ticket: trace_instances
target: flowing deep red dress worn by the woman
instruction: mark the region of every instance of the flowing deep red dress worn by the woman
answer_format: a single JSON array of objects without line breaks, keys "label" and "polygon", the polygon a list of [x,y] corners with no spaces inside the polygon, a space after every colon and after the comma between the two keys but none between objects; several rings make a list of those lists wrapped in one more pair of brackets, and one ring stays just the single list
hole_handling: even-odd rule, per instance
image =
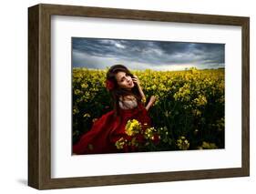
[{"label": "flowing deep red dress worn by the woman", "polygon": [[120,152],[115,143],[119,138],[126,136],[125,126],[129,119],[137,119],[142,124],[151,125],[148,111],[140,103],[133,109],[120,109],[118,117],[115,117],[112,110],[95,121],[93,127],[73,146],[73,153],[82,155]]}]

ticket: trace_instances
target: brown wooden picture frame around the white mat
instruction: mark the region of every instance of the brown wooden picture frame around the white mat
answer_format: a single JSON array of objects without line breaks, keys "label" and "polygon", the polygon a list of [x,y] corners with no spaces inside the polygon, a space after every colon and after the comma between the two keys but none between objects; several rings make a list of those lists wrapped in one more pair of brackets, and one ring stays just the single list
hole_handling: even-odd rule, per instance
[{"label": "brown wooden picture frame around the white mat", "polygon": [[[142,174],[51,178],[51,16],[86,16],[141,21],[241,26],[241,168],[166,171]],[[250,19],[73,5],[28,8],[28,185],[60,189],[250,175]]]}]

